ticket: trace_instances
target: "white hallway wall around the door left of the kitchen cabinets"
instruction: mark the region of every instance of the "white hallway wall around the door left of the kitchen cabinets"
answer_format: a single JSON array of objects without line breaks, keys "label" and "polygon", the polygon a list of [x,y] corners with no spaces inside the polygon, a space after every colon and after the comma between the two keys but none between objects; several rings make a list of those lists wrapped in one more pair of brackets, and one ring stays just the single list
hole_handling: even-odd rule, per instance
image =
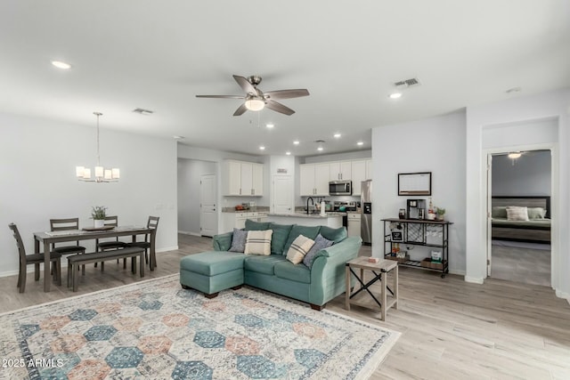
[{"label": "white hallway wall around the door left of the kitchen cabinets", "polygon": [[217,164],[209,161],[178,158],[178,231],[199,235],[200,179],[204,174],[217,175]]}]

